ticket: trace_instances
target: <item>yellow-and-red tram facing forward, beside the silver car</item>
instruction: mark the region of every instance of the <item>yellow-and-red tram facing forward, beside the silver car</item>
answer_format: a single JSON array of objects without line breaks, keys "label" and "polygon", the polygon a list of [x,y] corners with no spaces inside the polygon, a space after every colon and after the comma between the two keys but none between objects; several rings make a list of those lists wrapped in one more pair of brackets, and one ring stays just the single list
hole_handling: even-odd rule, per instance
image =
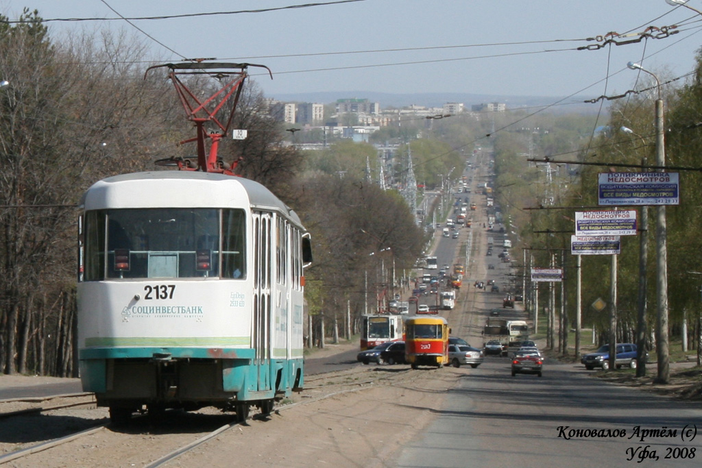
[{"label": "yellow-and-red tram facing forward, beside the silver car", "polygon": [[405,360],[413,369],[449,363],[449,323],[444,317],[410,317],[404,328]]}]

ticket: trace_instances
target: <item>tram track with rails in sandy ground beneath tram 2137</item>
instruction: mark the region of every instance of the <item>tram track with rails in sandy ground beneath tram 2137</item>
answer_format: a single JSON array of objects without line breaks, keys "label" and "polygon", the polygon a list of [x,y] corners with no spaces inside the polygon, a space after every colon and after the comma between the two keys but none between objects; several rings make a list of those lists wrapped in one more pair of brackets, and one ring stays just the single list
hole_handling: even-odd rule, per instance
[{"label": "tram track with rails in sandy ground beneath tram 2137", "polygon": [[[163,421],[141,415],[133,417],[126,426],[119,427],[109,423],[105,408],[95,408],[94,401],[5,411],[0,415],[6,418],[4,424],[14,424],[16,432],[20,431],[23,424],[36,424],[37,417],[46,417],[41,424],[47,427],[53,422],[60,424],[65,418],[78,418],[84,414],[78,412],[91,405],[93,408],[89,411],[98,413],[94,417],[102,422],[87,429],[81,428],[69,434],[48,437],[37,443],[21,444],[19,448],[8,448],[3,446],[6,444],[0,444],[0,454],[10,450],[0,455],[0,465],[13,462],[13,467],[31,467],[37,464],[44,467],[110,466],[110,463],[104,460],[109,460],[112,453],[128,452],[137,454],[135,460],[130,460],[133,466],[161,467],[232,429],[246,431],[246,426],[251,420],[266,420],[291,408],[307,406],[352,392],[377,389],[382,385],[411,386],[411,382],[421,375],[425,373],[403,366],[359,366],[352,372],[328,373],[324,377],[314,378],[314,381],[326,384],[307,387],[301,394],[274,408],[272,415],[256,413],[244,423],[236,422],[233,415],[220,413],[215,408],[206,408],[197,413],[169,411]],[[357,378],[350,380],[350,377]],[[7,403],[0,402],[0,410],[3,410],[3,405]],[[32,419],[34,421],[29,421]]]}]

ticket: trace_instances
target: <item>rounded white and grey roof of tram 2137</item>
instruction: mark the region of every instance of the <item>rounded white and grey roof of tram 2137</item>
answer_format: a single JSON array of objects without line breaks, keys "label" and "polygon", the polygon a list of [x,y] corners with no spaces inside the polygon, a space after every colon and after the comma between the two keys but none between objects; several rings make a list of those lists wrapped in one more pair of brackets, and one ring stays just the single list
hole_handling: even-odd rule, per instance
[{"label": "rounded white and grey roof of tram 2137", "polygon": [[261,210],[278,211],[300,225],[295,211],[260,183],[232,175],[198,171],[121,174],[95,182],[81,197],[85,210],[109,208],[227,208],[242,196]]}]

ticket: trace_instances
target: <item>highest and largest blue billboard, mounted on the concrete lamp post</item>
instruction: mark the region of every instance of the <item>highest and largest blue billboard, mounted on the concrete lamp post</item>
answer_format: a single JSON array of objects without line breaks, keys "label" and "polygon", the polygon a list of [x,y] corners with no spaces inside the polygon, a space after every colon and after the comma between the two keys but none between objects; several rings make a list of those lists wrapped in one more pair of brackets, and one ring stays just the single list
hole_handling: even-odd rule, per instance
[{"label": "highest and largest blue billboard, mounted on the concrete lamp post", "polygon": [[600,173],[597,204],[608,206],[679,205],[678,173]]}]

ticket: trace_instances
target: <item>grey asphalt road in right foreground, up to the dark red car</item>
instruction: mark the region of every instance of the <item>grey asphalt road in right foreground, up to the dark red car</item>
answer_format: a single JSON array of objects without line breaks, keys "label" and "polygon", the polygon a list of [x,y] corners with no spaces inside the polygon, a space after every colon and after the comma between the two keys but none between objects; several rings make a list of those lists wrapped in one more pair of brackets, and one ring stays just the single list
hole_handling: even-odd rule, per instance
[{"label": "grey asphalt road in right foreground, up to the dark red car", "polygon": [[[488,358],[466,375],[449,392],[435,422],[407,441],[398,466],[689,467],[701,462],[702,434],[692,436],[695,424],[702,429],[698,403],[608,385],[573,364],[546,365],[541,378],[512,377],[509,362]],[[637,428],[677,434],[642,440]],[[578,429],[597,433],[571,432]]]}]

